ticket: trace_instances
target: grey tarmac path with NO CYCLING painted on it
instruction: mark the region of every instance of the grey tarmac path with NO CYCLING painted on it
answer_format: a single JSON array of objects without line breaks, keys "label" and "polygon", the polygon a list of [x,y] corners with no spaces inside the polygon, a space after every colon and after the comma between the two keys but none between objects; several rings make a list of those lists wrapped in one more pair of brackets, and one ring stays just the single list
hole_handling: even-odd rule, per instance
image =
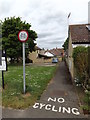
[{"label": "grey tarmac path with NO CYCLING painted on it", "polygon": [[3,108],[2,116],[3,118],[86,118],[80,109],[78,96],[64,62],[59,64],[54,78],[34,106],[25,110]]}]

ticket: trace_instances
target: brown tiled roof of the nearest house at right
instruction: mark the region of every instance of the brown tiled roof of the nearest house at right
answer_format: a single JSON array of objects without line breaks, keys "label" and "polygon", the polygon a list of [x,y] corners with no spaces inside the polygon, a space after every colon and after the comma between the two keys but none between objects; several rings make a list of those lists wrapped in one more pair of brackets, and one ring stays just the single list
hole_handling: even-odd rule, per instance
[{"label": "brown tiled roof of the nearest house at right", "polygon": [[90,42],[90,25],[70,25],[70,33],[73,44],[88,44]]}]

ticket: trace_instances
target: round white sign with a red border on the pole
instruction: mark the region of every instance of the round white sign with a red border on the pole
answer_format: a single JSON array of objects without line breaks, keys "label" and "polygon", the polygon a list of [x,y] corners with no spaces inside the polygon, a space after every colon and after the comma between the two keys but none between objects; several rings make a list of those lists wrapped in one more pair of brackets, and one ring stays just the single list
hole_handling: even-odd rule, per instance
[{"label": "round white sign with a red border on the pole", "polygon": [[18,33],[18,39],[20,42],[26,42],[28,40],[28,32],[26,30],[21,30]]}]

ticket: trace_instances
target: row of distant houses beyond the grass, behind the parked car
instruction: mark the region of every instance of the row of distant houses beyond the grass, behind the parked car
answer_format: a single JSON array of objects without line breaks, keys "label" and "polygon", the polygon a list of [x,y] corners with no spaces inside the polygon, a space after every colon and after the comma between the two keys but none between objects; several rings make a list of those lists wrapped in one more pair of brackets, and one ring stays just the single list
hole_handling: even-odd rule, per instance
[{"label": "row of distant houses beyond the grass, behind the parked car", "polygon": [[63,49],[54,48],[51,50],[44,50],[36,46],[36,51],[29,53],[28,57],[33,63],[51,63],[53,58],[57,58],[58,61],[61,61],[63,56]]}]

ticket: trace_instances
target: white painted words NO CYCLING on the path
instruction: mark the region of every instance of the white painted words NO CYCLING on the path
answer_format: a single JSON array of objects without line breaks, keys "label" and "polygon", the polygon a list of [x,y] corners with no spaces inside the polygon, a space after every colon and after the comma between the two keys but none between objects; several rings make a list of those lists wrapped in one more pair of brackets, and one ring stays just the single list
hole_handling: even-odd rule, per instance
[{"label": "white painted words NO CYCLING on the path", "polygon": [[[53,103],[57,102],[58,106],[56,106],[55,104],[51,104],[51,102],[53,102]],[[73,115],[77,115],[77,116],[80,115],[79,109],[76,108],[76,107],[66,106],[65,99],[62,98],[62,97],[60,97],[60,98],[49,97],[48,100],[47,100],[47,103],[36,102],[33,105],[33,108],[34,109],[40,109],[40,110],[44,109],[46,111],[52,111],[52,112],[55,112],[55,113],[63,113],[63,114],[67,113],[67,114],[73,114]]]}]

